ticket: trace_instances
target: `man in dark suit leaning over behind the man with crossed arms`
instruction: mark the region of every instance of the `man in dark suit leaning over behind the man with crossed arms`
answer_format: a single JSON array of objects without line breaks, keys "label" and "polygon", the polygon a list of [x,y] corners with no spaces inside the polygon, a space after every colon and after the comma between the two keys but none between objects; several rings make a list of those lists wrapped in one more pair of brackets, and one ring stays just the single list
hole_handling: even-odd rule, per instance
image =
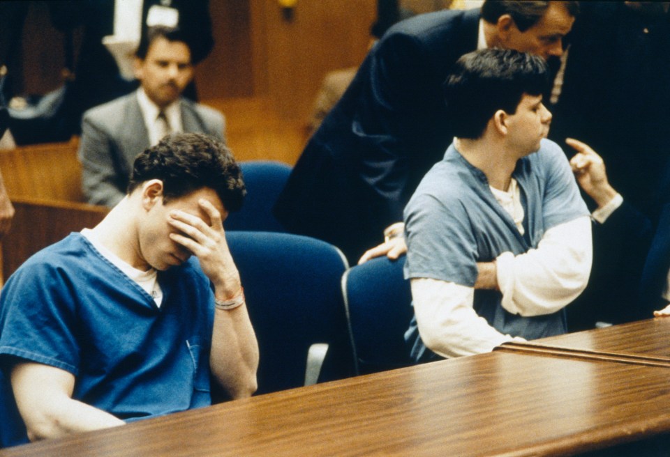
[{"label": "man in dark suit leaning over behind the man with crossed arms", "polygon": [[[393,26],[313,135],[275,207],[286,229],[351,262],[378,245],[452,133],[442,82],[461,55],[503,47],[560,56],[576,2],[486,1]],[[480,20],[481,19],[481,20]]]}]

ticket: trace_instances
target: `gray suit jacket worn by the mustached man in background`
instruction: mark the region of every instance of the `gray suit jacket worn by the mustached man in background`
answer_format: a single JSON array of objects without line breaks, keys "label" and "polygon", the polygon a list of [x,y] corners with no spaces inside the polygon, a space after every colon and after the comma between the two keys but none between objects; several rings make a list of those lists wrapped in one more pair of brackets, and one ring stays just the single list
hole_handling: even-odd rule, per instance
[{"label": "gray suit jacket worn by the mustached man in background", "polygon": [[[184,132],[206,133],[225,142],[225,120],[215,109],[181,104]],[[149,148],[137,93],[89,109],[82,119],[79,159],[82,189],[89,203],[114,206],[126,195],[135,156]]]}]

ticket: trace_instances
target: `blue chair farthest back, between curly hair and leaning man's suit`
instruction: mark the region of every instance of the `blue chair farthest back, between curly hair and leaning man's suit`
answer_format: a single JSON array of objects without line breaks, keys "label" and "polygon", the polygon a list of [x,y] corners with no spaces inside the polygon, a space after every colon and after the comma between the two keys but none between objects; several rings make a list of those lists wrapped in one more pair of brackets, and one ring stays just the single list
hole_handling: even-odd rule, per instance
[{"label": "blue chair farthest back, between curly hair and leaning man's suit", "polygon": [[226,230],[283,232],[272,208],[291,173],[282,162],[253,160],[240,162],[246,197],[241,210],[231,212],[223,226]]}]

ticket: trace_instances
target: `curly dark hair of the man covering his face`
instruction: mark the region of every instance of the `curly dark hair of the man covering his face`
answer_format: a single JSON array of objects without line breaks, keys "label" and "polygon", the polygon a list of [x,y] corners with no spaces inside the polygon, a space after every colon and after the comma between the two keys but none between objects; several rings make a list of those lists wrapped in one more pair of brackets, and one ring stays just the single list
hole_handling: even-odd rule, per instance
[{"label": "curly dark hair of the man covering his face", "polygon": [[232,153],[202,133],[175,133],[135,157],[128,194],[151,179],[163,181],[164,201],[203,187],[214,189],[228,211],[242,206],[246,189]]}]

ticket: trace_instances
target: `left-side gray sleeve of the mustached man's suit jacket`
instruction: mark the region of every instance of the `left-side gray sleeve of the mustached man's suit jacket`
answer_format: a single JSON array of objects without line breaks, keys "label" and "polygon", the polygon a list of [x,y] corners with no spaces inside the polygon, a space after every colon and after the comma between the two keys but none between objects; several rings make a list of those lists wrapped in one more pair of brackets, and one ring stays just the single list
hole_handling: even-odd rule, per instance
[{"label": "left-side gray sleeve of the mustached man's suit jacket", "polygon": [[113,141],[91,116],[84,114],[79,159],[82,190],[88,203],[114,206],[126,195],[121,189],[112,158]]}]

